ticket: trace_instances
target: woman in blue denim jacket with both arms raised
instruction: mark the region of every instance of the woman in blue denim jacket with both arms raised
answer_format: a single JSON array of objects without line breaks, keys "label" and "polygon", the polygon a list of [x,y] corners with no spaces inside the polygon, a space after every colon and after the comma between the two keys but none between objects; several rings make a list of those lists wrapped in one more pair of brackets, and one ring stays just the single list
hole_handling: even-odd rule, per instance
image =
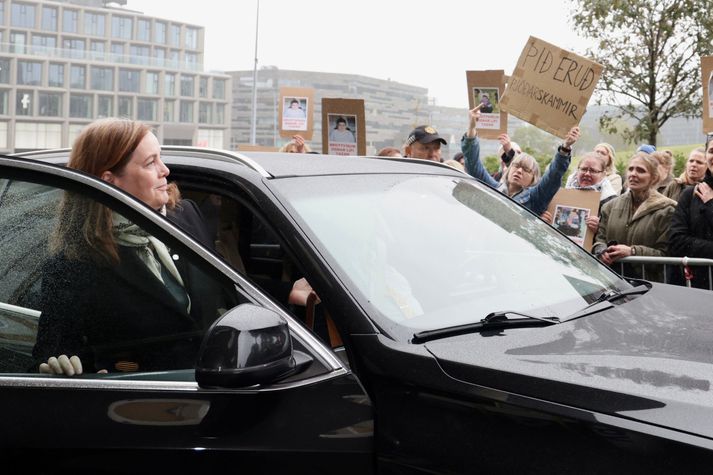
[{"label": "woman in blue denim jacket with both arms raised", "polygon": [[508,167],[505,178],[498,182],[488,174],[480,160],[480,143],[477,137],[477,123],[480,106],[469,111],[468,131],[461,140],[461,150],[465,155],[465,169],[473,177],[487,183],[501,193],[540,215],[547,209],[552,197],[557,193],[572,157],[572,145],[579,138],[579,127],[572,127],[564,143],[559,146],[554,160],[540,179],[537,161],[526,153],[515,157]]}]

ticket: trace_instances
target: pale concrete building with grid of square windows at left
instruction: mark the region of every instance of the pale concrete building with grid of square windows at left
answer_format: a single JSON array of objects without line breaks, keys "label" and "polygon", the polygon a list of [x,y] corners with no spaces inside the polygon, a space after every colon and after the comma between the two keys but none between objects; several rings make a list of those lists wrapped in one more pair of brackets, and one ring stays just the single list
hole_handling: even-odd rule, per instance
[{"label": "pale concrete building with grid of square windows at left", "polygon": [[125,3],[0,0],[0,151],[69,147],[100,117],[228,147],[230,77],[202,71],[203,27]]}]

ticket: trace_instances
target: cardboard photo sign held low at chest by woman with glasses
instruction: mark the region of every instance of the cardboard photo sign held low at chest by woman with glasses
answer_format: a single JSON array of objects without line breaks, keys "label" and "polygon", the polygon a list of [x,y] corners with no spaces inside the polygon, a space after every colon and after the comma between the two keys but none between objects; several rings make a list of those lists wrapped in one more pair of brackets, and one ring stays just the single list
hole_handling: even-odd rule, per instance
[{"label": "cardboard photo sign held low at chest by woman with glasses", "polygon": [[589,216],[599,216],[601,192],[560,188],[547,211],[550,224],[586,250],[592,249],[594,233],[587,227]]}]

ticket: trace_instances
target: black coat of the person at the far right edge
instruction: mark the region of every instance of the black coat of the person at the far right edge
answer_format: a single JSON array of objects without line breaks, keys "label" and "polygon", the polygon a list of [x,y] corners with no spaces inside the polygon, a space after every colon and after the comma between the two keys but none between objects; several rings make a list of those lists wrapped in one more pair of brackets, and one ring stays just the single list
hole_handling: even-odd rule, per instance
[{"label": "black coat of the person at the far right edge", "polygon": [[[694,194],[695,187],[683,190],[671,218],[668,250],[671,256],[713,259],[713,201],[703,203]],[[708,289],[708,268],[692,267],[693,287]],[[682,271],[675,269],[672,283],[685,282]]]}]

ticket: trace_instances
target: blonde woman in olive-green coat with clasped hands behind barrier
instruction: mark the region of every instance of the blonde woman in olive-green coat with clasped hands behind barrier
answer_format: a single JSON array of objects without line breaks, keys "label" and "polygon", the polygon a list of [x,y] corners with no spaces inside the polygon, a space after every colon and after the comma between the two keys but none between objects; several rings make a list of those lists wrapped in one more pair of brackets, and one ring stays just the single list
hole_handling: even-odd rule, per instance
[{"label": "blonde woman in olive-green coat with clasped hands behind barrier", "polygon": [[[627,170],[629,191],[606,203],[592,253],[607,265],[628,256],[664,256],[676,202],[656,191],[658,162],[637,152]],[[638,269],[625,272],[637,275]],[[646,266],[646,277],[661,280],[660,268]]]}]

